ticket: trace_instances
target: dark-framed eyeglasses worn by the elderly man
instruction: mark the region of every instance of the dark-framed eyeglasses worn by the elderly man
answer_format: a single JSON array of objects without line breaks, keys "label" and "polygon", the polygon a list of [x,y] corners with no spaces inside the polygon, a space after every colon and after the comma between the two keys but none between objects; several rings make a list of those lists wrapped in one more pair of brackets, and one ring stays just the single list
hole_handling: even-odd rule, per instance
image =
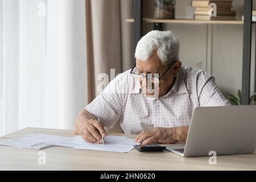
[{"label": "dark-framed eyeglasses worn by the elderly man", "polygon": [[[175,61],[174,61],[174,63],[175,63]],[[159,83],[160,79],[164,76],[164,74],[166,74],[166,72],[168,72],[168,70],[172,67],[172,65],[174,65],[174,63],[172,63],[166,69],[166,71],[164,71],[163,74],[160,76],[159,76],[159,73],[148,73],[147,75],[145,75],[144,73],[138,73],[138,70],[136,68],[136,60],[135,60],[135,63],[133,65],[133,68],[131,68],[130,73],[134,78],[138,78],[139,81],[143,81],[144,78],[147,78],[147,80],[150,80],[154,83]],[[151,76],[151,75],[154,75],[154,76]]]}]

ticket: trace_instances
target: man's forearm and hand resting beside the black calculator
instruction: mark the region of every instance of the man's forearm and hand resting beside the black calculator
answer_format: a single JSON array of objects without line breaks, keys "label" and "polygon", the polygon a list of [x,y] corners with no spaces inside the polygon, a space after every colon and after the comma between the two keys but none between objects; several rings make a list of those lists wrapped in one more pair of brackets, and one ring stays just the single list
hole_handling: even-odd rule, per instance
[{"label": "man's forearm and hand resting beside the black calculator", "polygon": [[142,131],[135,139],[135,142],[142,144],[185,142],[188,129],[188,126],[172,128],[155,127],[151,130]]}]

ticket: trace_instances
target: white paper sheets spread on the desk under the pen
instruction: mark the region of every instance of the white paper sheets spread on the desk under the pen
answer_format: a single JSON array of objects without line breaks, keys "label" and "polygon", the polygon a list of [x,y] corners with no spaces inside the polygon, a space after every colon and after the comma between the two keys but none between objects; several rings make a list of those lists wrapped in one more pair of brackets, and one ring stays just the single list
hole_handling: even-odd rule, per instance
[{"label": "white paper sheets spread on the desk under the pen", "polygon": [[7,139],[0,142],[3,146],[42,149],[50,146],[72,147],[82,150],[99,150],[112,152],[129,152],[134,147],[133,139],[127,137],[106,136],[105,144],[88,143],[81,136],[62,137],[46,134],[31,134],[24,137]]}]

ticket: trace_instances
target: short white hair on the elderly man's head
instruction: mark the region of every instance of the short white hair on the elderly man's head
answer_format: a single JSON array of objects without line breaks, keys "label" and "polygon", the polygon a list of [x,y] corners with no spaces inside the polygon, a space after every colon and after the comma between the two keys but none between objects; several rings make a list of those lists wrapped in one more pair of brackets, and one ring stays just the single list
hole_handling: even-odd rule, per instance
[{"label": "short white hair on the elderly man's head", "polygon": [[172,31],[153,30],[139,40],[135,57],[146,61],[157,49],[158,57],[162,63],[172,64],[179,60],[179,48],[179,39]]}]

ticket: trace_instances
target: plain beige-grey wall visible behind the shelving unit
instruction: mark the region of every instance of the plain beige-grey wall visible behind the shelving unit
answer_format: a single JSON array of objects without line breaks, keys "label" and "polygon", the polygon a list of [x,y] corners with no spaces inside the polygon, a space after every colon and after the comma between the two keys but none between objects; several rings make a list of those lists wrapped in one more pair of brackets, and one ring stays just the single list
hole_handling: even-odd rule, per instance
[{"label": "plain beige-grey wall visible behind the shelving unit", "polygon": [[[253,1],[256,10],[256,1]],[[154,0],[143,1],[144,18],[154,16]],[[185,7],[191,6],[191,0],[176,1],[176,18],[185,18]],[[234,0],[233,10],[237,19],[241,19],[243,1]],[[152,23],[143,23],[143,34],[152,30]],[[226,24],[163,24],[164,30],[173,30],[180,38],[180,59],[183,65],[204,69],[212,73],[217,84],[225,93],[237,94],[242,88],[242,44],[243,26]],[[254,88],[254,36],[253,25],[251,55],[251,93]]]}]

